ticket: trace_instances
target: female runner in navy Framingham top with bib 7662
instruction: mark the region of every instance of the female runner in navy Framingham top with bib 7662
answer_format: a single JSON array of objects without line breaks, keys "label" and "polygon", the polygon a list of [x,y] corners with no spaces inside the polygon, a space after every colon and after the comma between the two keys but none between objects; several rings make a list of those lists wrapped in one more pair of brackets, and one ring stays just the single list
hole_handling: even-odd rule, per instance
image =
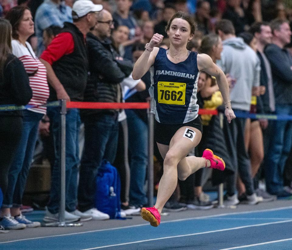
[{"label": "female runner in navy Framingham top with bib 7662", "polygon": [[194,36],[195,26],[186,13],[177,12],[166,27],[170,39],[169,50],[155,47],[161,43],[163,36],[154,34],[132,73],[133,79],[140,79],[151,67],[151,112],[155,114],[155,140],[164,163],[156,204],[143,207],[141,216],[155,227],[160,224],[162,208],[174,192],[177,178],[185,180],[204,167],[225,168],[224,161],[210,149],[203,152],[203,157],[186,157],[202,137],[199,106],[196,104],[197,81],[201,71],[216,77],[225,103],[225,116],[229,123],[235,118],[223,71],[208,55],[186,49]]}]

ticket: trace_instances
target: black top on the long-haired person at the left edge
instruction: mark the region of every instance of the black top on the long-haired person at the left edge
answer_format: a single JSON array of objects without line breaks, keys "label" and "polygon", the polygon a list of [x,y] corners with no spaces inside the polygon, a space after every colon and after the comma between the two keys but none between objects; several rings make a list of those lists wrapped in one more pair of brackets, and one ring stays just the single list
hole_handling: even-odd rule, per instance
[{"label": "black top on the long-haired person at the left edge", "polygon": [[[0,105],[26,105],[33,96],[22,62],[9,54],[0,77]],[[0,111],[0,116],[22,116],[22,111]]]}]

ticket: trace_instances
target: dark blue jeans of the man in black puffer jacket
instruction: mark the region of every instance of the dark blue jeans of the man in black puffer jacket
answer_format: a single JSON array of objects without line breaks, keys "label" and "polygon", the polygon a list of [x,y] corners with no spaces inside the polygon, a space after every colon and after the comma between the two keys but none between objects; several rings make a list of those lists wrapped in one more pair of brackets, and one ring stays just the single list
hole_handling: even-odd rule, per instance
[{"label": "dark blue jeans of the man in black puffer jacket", "polygon": [[96,175],[103,159],[111,164],[116,158],[119,135],[117,115],[100,114],[84,120],[84,150],[80,165],[78,208],[84,212],[94,207]]}]

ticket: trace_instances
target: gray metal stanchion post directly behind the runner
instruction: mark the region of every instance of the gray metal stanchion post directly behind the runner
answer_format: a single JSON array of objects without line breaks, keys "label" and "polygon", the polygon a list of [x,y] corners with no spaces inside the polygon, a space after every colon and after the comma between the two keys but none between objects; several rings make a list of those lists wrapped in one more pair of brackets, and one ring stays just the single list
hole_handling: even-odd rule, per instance
[{"label": "gray metal stanchion post directly behind the runner", "polygon": [[[150,103],[150,102],[149,102]],[[154,177],[153,177],[153,155],[154,155],[154,115],[150,113],[151,107],[148,108],[148,205],[152,207],[153,204],[153,187],[154,187]]]}]

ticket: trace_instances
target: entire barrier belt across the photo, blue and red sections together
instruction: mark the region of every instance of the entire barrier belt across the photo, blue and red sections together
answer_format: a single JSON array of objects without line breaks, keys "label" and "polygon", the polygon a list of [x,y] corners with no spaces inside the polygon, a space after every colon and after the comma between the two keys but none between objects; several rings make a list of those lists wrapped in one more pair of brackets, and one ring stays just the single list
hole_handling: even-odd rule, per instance
[{"label": "entire barrier belt across the photo, blue and red sections together", "polygon": [[[44,105],[26,105],[16,106],[13,104],[0,105],[0,111],[15,111],[23,109],[31,109],[37,107],[57,107],[61,106],[60,101],[48,102]],[[66,107],[68,109],[149,109],[149,102],[67,102]],[[199,109],[199,115],[217,115],[216,109]],[[238,118],[251,118],[251,119],[268,119],[268,120],[292,120],[291,115],[281,114],[252,114],[247,112],[235,112],[235,116]]]}]

